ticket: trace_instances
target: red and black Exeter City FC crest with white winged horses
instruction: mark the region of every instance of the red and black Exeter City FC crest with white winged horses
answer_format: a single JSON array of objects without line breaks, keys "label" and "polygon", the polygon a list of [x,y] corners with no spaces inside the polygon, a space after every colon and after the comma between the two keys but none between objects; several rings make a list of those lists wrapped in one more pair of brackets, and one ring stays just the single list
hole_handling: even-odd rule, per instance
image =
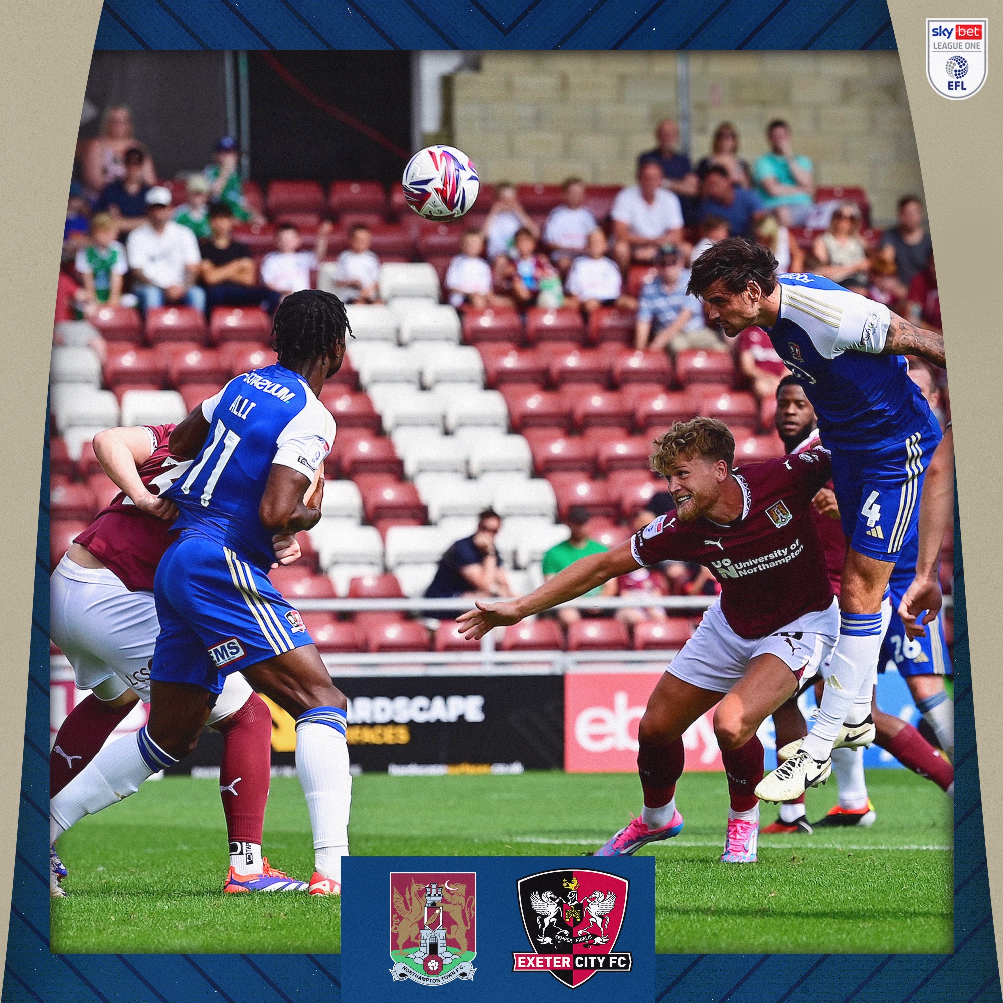
[{"label": "red and black Exeter City FC crest with white winged horses", "polygon": [[519,911],[533,954],[513,952],[514,972],[550,972],[577,989],[600,972],[629,972],[630,952],[614,951],[630,882],[605,871],[543,871],[517,882]]}]

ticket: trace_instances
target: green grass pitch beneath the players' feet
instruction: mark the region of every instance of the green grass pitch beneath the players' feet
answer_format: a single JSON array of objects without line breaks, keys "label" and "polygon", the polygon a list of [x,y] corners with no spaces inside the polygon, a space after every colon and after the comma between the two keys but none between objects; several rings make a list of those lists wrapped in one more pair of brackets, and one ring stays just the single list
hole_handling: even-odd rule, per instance
[{"label": "green grass pitch beneath the players' feet", "polygon": [[[686,827],[641,851],[657,859],[656,945],[672,953],[945,953],[953,943],[950,799],[906,770],[868,773],[870,829],[761,837],[759,862],[718,862],[727,812],[720,773],[686,773]],[[357,855],[577,855],[636,812],[632,774],[356,777]],[[835,784],[808,794],[808,818]],[[775,807],[763,805],[762,824]],[[336,899],[221,894],[229,861],[213,780],[146,783],[60,841],[66,899],[52,950],[73,953],[336,953]],[[265,853],[308,879],[310,825],[297,780],[272,781]]]}]

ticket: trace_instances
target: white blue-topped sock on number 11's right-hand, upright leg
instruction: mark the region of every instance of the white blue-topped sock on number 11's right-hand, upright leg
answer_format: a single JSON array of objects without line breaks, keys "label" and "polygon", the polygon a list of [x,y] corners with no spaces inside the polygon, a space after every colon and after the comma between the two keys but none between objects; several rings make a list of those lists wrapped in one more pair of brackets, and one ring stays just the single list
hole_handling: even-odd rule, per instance
[{"label": "white blue-topped sock on number 11's right-hand, upright leg", "polygon": [[315,867],[340,884],[341,858],[348,856],[352,802],[343,710],[315,707],[297,719],[296,773],[310,811]]}]

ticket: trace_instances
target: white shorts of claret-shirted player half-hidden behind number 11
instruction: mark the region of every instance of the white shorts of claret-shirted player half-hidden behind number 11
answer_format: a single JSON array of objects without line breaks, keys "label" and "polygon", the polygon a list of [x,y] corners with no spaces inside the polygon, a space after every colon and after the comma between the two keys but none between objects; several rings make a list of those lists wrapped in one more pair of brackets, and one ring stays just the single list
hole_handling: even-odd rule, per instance
[{"label": "white shorts of claret-shirted player half-hidden behind number 11", "polygon": [[[109,569],[81,568],[63,556],[49,579],[49,636],[73,666],[80,689],[98,687],[102,700],[132,689],[149,703],[159,632],[151,592],[129,592]],[[244,676],[231,673],[206,723],[240,710],[251,692]]]}]

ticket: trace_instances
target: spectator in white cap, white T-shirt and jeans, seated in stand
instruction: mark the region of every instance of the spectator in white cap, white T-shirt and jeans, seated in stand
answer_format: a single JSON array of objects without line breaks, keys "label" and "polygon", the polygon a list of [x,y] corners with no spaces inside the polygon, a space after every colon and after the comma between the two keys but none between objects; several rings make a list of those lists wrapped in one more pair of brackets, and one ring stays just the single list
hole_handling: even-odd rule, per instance
[{"label": "spectator in white cap, white T-shirt and jeans, seated in stand", "polygon": [[206,291],[196,285],[202,256],[188,227],[171,219],[171,193],[154,185],[146,193],[146,222],[125,245],[132,287],[143,312],[165,304],[206,309]]}]

